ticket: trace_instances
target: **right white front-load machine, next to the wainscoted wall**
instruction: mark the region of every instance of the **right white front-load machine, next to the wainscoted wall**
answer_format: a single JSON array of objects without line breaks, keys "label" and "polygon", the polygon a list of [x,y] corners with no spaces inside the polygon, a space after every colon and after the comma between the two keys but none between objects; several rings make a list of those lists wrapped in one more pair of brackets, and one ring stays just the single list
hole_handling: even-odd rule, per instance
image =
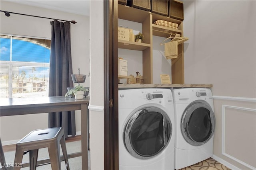
[{"label": "right white front-load machine, next to the wainscoted wall", "polygon": [[208,88],[172,90],[175,110],[174,168],[196,164],[213,155],[215,116]]}]

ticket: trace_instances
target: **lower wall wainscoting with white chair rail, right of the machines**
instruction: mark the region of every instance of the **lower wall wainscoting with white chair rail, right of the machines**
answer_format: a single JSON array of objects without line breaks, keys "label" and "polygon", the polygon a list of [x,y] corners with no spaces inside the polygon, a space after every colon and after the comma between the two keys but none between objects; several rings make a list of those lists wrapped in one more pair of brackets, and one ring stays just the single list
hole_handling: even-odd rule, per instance
[{"label": "lower wall wainscoting with white chair rail, right of the machines", "polygon": [[256,99],[230,96],[213,96],[213,99],[214,155],[241,170],[255,170]]}]

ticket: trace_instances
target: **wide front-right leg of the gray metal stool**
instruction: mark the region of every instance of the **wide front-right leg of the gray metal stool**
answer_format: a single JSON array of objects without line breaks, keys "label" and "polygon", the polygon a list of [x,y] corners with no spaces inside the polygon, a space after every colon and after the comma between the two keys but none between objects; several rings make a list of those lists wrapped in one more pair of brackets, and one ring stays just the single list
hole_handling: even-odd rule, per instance
[{"label": "wide front-right leg of the gray metal stool", "polygon": [[52,170],[61,170],[60,144],[58,142],[50,144],[50,147],[48,147],[48,152],[50,156]]}]

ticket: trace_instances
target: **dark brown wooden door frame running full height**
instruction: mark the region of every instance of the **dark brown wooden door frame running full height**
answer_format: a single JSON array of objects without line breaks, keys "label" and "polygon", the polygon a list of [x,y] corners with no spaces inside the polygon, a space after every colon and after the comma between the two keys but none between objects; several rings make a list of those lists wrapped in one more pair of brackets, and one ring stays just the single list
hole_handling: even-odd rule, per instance
[{"label": "dark brown wooden door frame running full height", "polygon": [[118,1],[104,0],[104,169],[118,170]]}]

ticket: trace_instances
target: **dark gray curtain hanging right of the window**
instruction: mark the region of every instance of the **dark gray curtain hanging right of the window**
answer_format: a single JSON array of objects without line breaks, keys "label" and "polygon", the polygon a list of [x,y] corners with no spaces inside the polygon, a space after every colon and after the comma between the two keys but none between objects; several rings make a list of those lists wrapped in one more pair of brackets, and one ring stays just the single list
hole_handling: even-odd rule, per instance
[{"label": "dark gray curtain hanging right of the window", "polygon": [[[49,96],[65,96],[67,87],[73,87],[70,46],[70,22],[51,21]],[[76,135],[74,111],[48,114],[48,127],[64,128],[65,138]]]}]

